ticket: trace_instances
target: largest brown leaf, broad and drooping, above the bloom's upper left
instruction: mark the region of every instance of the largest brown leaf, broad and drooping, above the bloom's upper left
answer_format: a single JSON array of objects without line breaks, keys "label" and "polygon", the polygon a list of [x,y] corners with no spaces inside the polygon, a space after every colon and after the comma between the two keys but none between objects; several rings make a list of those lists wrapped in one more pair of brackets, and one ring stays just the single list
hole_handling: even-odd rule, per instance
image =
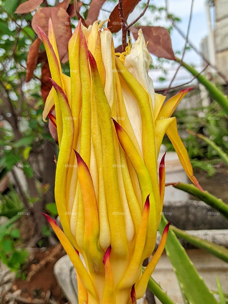
[{"label": "largest brown leaf, broad and drooping, above the bloom's upper left", "polygon": [[49,18],[52,19],[59,57],[62,60],[68,51],[68,42],[72,36],[70,17],[62,8],[43,7],[38,9],[33,16],[32,27],[39,38],[40,34],[36,25],[48,34]]}]

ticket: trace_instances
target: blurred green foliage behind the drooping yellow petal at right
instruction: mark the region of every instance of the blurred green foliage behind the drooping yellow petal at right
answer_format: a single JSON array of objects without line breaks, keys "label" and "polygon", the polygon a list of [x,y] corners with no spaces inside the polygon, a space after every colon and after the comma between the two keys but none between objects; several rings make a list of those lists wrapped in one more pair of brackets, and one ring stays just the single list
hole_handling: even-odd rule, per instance
[{"label": "blurred green foliage behind the drooping yellow petal at right", "polygon": [[[207,107],[177,109],[173,116],[177,117],[178,131],[188,151],[192,166],[208,172],[209,176],[215,174],[216,164],[222,162],[221,157],[205,141],[187,133],[186,130],[208,136],[223,151],[227,151],[227,119],[220,106],[213,101]],[[163,143],[168,150],[174,151],[167,137],[164,138]]]}]

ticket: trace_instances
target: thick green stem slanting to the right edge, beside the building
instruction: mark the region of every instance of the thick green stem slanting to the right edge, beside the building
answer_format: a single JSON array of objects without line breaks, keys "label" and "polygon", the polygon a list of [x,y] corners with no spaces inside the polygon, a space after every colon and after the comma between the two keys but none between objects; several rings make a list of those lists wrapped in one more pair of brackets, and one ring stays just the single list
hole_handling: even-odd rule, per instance
[{"label": "thick green stem slanting to the right edge, beside the building", "polygon": [[[181,59],[175,58],[177,62],[181,62]],[[186,70],[188,70],[193,76],[196,76],[198,81],[202,83],[202,85],[205,86],[205,88],[208,90],[209,94],[212,98],[216,100],[216,102],[219,103],[219,105],[222,107],[222,109],[226,112],[228,115],[228,99],[226,95],[223,94],[216,86],[209,81],[204,75],[198,73],[193,67],[186,64],[184,61],[182,61],[182,66],[185,67]]]}]

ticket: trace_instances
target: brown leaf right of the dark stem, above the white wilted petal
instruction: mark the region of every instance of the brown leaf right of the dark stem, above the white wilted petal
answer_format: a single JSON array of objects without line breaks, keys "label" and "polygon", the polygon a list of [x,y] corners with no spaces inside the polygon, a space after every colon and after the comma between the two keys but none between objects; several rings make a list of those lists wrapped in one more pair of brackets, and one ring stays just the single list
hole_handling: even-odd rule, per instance
[{"label": "brown leaf right of the dark stem, above the white wilted petal", "polygon": [[138,38],[138,31],[142,29],[145,41],[148,41],[147,49],[150,53],[159,58],[175,60],[175,55],[172,49],[170,33],[167,29],[161,26],[135,26],[131,27],[135,39]]}]

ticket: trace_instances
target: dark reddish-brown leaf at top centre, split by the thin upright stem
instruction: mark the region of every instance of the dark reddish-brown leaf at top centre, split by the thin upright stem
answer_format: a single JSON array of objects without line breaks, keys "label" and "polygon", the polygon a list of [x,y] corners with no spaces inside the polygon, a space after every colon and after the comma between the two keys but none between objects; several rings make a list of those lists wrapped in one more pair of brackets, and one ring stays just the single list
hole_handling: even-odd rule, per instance
[{"label": "dark reddish-brown leaf at top centre, split by the thin upright stem", "polygon": [[[136,5],[140,2],[140,0],[123,0],[123,12],[125,16],[125,22],[129,16],[129,14],[133,11]],[[108,29],[112,33],[116,33],[121,29],[121,23],[119,18],[119,4],[113,9],[109,16],[110,21],[108,22]]]}]

